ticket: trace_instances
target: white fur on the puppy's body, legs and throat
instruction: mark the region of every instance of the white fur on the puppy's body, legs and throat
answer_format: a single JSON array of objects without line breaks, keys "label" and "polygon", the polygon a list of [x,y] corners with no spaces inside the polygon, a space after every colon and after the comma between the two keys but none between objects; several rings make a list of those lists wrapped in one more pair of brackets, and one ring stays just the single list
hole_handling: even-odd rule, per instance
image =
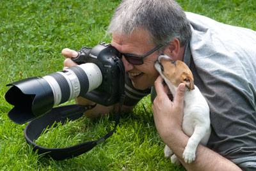
[{"label": "white fur on the puppy's body, legs and throat", "polygon": [[[158,59],[161,59],[161,57],[169,58],[168,56],[159,56]],[[159,71],[161,77],[163,77],[164,81],[172,92],[173,98],[175,98],[177,87],[175,87],[175,85],[164,77],[163,73],[161,73],[159,63],[155,64],[155,68],[157,71]],[[164,68],[164,70],[168,70],[168,68]],[[195,89],[191,91],[186,88],[184,95],[184,115],[182,123],[182,130],[190,137],[182,156],[186,163],[195,161],[196,148],[199,143],[202,145],[207,144],[211,134],[210,124],[210,110],[204,96],[202,93],[200,93],[200,90],[198,87],[196,87],[196,85]],[[177,156],[173,154],[172,150],[167,145],[164,149],[164,156],[171,156],[172,163],[179,164]]]}]

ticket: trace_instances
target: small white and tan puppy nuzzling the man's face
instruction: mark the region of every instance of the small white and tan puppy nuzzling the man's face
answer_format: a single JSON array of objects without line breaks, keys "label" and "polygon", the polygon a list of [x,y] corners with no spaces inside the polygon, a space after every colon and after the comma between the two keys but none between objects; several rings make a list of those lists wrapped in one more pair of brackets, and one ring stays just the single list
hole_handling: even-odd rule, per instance
[{"label": "small white and tan puppy nuzzling the man's face", "polygon": [[[185,63],[161,55],[155,63],[155,68],[168,85],[173,98],[179,84],[186,85],[182,130],[190,138],[182,157],[186,163],[191,163],[195,161],[198,144],[206,145],[211,134],[209,106],[198,87],[194,85],[192,72]],[[165,145],[164,156],[172,156],[172,163],[179,164],[177,156],[167,145]]]}]

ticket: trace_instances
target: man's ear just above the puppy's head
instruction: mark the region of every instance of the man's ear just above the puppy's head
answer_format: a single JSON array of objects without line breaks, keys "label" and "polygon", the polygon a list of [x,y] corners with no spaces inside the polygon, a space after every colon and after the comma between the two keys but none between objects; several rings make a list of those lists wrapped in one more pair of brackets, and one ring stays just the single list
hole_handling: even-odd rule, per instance
[{"label": "man's ear just above the puppy's head", "polygon": [[179,50],[180,50],[180,41],[175,38],[172,41],[170,41],[166,48],[164,48],[164,54],[167,56],[172,56],[174,60],[178,59],[179,56]]}]

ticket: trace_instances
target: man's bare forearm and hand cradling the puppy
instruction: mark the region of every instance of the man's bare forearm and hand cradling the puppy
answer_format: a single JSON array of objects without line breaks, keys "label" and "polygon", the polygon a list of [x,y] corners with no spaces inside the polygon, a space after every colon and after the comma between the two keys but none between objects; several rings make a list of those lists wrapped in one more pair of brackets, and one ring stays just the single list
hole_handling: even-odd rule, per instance
[{"label": "man's bare forearm and hand cradling the puppy", "polygon": [[232,161],[227,160],[220,154],[198,145],[196,160],[187,164],[182,154],[188,143],[189,137],[182,131],[183,103],[185,85],[180,84],[173,101],[170,101],[167,86],[162,84],[163,78],[158,77],[155,82],[157,96],[152,106],[157,131],[164,143],[172,149],[187,170],[241,170]]}]

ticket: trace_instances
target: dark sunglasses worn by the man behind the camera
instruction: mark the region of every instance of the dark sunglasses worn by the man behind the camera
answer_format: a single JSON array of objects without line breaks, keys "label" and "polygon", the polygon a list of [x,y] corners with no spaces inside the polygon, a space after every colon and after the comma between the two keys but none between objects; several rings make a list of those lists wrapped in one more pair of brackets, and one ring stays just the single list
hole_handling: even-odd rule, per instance
[{"label": "dark sunglasses worn by the man behind the camera", "polygon": [[130,64],[134,64],[134,65],[139,65],[139,64],[143,64],[143,58],[149,56],[150,54],[152,54],[153,52],[155,52],[157,49],[163,47],[163,45],[159,45],[158,47],[153,48],[152,50],[150,50],[149,52],[147,52],[147,54],[143,55],[143,56],[136,56],[136,55],[132,55],[132,54],[122,54],[122,56],[125,57],[126,61],[128,61],[128,63]]}]

